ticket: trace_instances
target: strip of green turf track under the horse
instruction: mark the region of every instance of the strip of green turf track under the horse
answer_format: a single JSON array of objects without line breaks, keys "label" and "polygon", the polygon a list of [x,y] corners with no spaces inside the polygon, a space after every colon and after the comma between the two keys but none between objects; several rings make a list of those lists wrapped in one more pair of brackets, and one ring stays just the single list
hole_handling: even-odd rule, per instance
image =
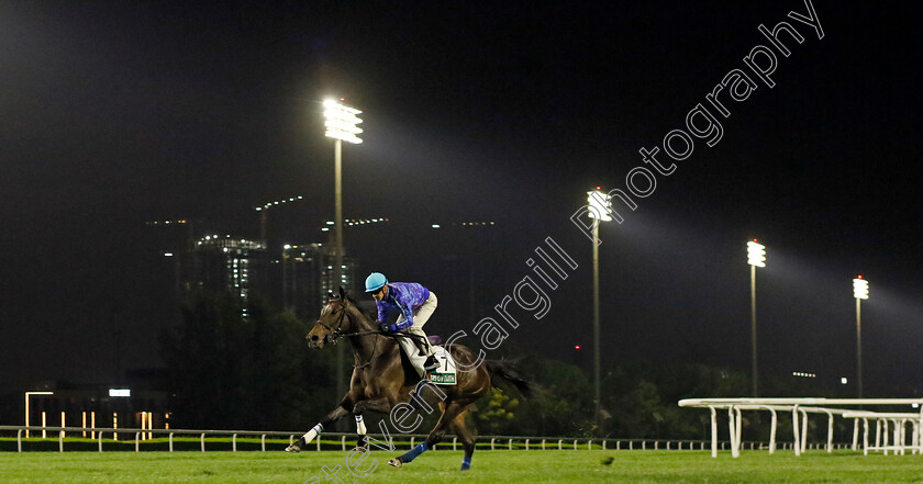
[{"label": "strip of green turf track under the horse", "polygon": [[[923,455],[868,455],[839,451],[739,459],[708,451],[478,451],[471,471],[458,472],[462,452],[427,452],[402,469],[387,465],[399,452],[374,452],[368,476],[356,477],[346,452],[0,452],[0,482],[13,483],[214,483],[302,484],[327,481],[323,466],[341,465],[344,483],[923,483]],[[607,465],[603,462],[613,458]]]}]

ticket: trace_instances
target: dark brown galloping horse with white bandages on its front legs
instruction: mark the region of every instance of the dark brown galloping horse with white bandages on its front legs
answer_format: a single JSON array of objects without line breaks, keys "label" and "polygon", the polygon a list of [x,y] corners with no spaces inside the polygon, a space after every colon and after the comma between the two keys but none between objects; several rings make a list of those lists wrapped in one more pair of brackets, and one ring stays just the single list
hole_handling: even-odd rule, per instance
[{"label": "dark brown galloping horse with white bandages on its front legs", "polygon": [[[311,348],[321,349],[325,344],[334,344],[341,337],[348,338],[356,360],[349,381],[349,391],[336,408],[304,434],[298,442],[289,446],[287,451],[300,451],[318,437],[324,427],[349,414],[356,418],[359,444],[367,446],[366,428],[363,423],[365,412],[387,414],[399,404],[410,402],[410,405],[420,405],[420,399],[432,404],[440,402],[435,398],[440,397],[442,415],[426,440],[401,457],[391,459],[388,463],[400,468],[412,461],[420,453],[432,449],[443,439],[446,430],[452,428],[453,432],[462,439],[465,448],[462,470],[466,471],[471,465],[475,436],[465,427],[465,410],[483,396],[491,386],[496,386],[494,381],[502,380],[515,386],[524,396],[531,395],[529,382],[516,375],[510,368],[496,360],[483,360],[482,364],[476,365],[471,351],[462,345],[451,345],[451,348],[447,348],[458,368],[457,383],[454,386],[435,387],[429,383],[419,384],[420,376],[410,362],[401,358],[401,349],[393,339],[394,336],[382,334],[377,324],[363,314],[355,302],[346,297],[343,288],[340,289],[338,297],[330,295],[327,305],[321,311],[321,317],[314,323],[307,339]],[[418,395],[413,395],[414,390]],[[419,395],[421,393],[424,395]]]}]

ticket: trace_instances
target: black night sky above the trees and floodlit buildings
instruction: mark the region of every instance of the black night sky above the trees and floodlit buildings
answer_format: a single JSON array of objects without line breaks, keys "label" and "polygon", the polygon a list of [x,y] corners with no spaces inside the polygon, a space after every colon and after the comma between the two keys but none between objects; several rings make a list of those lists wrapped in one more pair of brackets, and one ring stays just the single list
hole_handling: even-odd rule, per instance
[{"label": "black night sky above the trees and floodlit buildings", "polygon": [[[815,1],[819,38],[787,16],[808,14],[800,0],[4,1],[0,392],[111,381],[116,331],[123,368],[162,364],[169,237],[145,222],[256,237],[254,206],[303,195],[270,215],[270,244],[326,241],[321,102],[342,97],[365,130],[344,147],[345,216],[393,221],[347,229],[347,249],[440,294],[427,331],[497,317],[551,236],[579,267],[544,318],[520,309],[511,340],[566,361],[589,349],[591,246],[570,215],[588,189],[653,170],[638,150],[659,146],[676,170],[600,228],[604,363],[748,370],[756,237],[760,372],[854,380],[861,273],[866,395],[919,395],[919,29],[909,5],[855,5]],[[791,55],[769,88],[744,57],[782,21],[804,42],[780,35]],[[733,69],[756,89],[719,94],[724,117],[707,94]],[[672,161],[664,137],[700,103],[722,137]],[[496,226],[429,228],[464,221]]]}]

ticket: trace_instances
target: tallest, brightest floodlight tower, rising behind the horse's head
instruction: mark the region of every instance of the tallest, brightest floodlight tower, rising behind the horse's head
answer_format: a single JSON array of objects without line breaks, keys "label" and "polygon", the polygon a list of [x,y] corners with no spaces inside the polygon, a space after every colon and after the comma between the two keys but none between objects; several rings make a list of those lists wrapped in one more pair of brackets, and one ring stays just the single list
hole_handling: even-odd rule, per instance
[{"label": "tallest, brightest floodlight tower, rising behind the horse's head", "polygon": [[[343,99],[341,99],[343,101]],[[362,111],[346,106],[337,101],[327,99],[324,101],[324,127],[326,127],[326,137],[334,138],[334,228],[335,232],[335,249],[334,249],[334,268],[333,268],[333,284],[336,288],[343,284],[343,159],[342,146],[343,142],[352,143],[354,145],[360,144],[363,140],[358,134],[363,132],[358,124],[363,122],[358,117]],[[337,394],[346,393],[346,378],[343,367],[345,363],[345,348],[344,345],[336,347],[336,387]]]}]

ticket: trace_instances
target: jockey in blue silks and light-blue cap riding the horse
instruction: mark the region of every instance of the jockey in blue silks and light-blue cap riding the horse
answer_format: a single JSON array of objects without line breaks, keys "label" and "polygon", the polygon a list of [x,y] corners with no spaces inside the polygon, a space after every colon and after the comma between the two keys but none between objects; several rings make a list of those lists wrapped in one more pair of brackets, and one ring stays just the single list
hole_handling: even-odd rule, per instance
[{"label": "jockey in blue silks and light-blue cap riding the horse", "polygon": [[[423,325],[436,311],[436,294],[415,282],[388,282],[381,272],[372,272],[366,278],[366,292],[370,292],[378,307],[378,323],[382,331],[404,330],[419,338],[397,338],[404,354],[413,368],[424,378],[427,371],[435,370],[440,363],[433,356],[433,348],[423,333]],[[389,325],[388,309],[400,312],[398,322]],[[419,339],[420,341],[413,341]],[[418,350],[418,344],[420,349]],[[425,353],[425,354],[424,354]],[[423,359],[425,358],[425,362]]]}]

